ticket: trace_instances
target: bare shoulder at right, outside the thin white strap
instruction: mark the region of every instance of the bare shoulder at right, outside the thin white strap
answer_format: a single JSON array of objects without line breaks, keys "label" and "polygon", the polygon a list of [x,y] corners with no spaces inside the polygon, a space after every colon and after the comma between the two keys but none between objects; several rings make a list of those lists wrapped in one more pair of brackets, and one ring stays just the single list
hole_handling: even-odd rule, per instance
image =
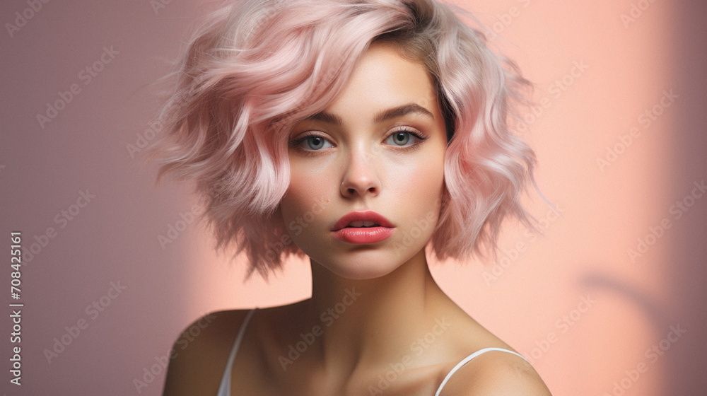
[{"label": "bare shoulder at right, outside the thin white strap", "polygon": [[440,396],[551,396],[535,369],[503,351],[481,354],[457,370]]}]

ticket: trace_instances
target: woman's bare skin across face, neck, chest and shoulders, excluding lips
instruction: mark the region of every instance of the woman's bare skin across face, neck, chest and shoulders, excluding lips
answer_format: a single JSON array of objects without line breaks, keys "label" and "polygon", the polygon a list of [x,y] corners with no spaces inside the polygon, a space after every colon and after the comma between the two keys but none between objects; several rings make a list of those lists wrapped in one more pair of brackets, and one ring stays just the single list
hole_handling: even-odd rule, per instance
[{"label": "woman's bare skin across face, neck, chest and shoulders, excluding lips", "polygon": [[[412,111],[376,120],[400,107]],[[257,310],[233,365],[231,395],[431,396],[472,352],[513,350],[450,301],[428,270],[424,247],[438,220],[447,142],[424,66],[374,43],[323,113],[292,130],[291,184],[281,202],[286,224],[325,202],[291,231],[311,259],[312,298]],[[424,139],[394,136],[401,131]],[[341,216],[364,209],[393,223],[393,235],[372,245],[332,236]],[[164,395],[216,395],[246,312],[216,313],[187,347],[177,340]],[[305,351],[288,359],[306,334]],[[442,395],[550,393],[529,363],[491,351],[452,375]]]}]

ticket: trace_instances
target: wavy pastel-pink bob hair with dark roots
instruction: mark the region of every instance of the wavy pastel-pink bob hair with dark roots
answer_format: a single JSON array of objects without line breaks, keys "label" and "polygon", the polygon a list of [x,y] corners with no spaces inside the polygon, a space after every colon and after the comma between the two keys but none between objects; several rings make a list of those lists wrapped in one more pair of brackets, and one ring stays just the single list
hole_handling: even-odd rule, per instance
[{"label": "wavy pastel-pink bob hair with dark roots", "polygon": [[[431,251],[464,259],[496,251],[503,219],[534,228],[520,195],[535,156],[516,137],[530,83],[486,47],[481,30],[434,0],[226,1],[188,42],[153,151],[165,174],[195,182],[216,248],[235,244],[267,276],[304,253],[277,215],[288,189],[288,136],[343,91],[372,42],[426,66],[448,134],[445,191]],[[235,256],[234,256],[235,257]]]}]

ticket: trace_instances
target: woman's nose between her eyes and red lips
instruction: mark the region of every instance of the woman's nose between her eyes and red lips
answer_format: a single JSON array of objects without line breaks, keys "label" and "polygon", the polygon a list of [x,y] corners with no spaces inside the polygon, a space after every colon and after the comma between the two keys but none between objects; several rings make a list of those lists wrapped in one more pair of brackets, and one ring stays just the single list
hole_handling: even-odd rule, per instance
[{"label": "woman's nose between her eyes and red lips", "polygon": [[373,160],[373,155],[363,149],[357,149],[349,155],[341,180],[341,195],[347,198],[367,195],[375,197],[380,193],[380,179]]}]

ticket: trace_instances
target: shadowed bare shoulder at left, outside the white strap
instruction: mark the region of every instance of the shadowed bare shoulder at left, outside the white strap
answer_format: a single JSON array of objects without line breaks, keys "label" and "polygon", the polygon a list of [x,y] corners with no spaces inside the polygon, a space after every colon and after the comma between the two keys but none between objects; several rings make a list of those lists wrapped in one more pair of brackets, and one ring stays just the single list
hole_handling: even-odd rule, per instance
[{"label": "shadowed bare shoulder at left, outside the white strap", "polygon": [[248,310],[194,320],[173,344],[163,396],[216,395],[228,355]]}]

